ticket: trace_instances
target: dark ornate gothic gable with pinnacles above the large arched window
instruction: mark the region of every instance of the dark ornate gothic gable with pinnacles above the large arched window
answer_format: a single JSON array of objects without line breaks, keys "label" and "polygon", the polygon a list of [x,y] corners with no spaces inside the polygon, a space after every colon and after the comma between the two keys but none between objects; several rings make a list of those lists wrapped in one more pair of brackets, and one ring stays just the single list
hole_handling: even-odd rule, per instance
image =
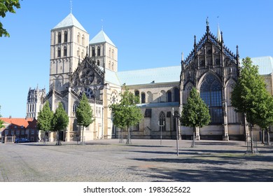
[{"label": "dark ornate gothic gable with pinnacles above the large arched window", "polygon": [[[237,80],[239,68],[239,54],[232,53],[223,44],[223,35],[221,38],[216,38],[209,31],[207,24],[207,32],[202,36],[200,41],[194,41],[194,48],[186,60],[182,60],[182,83],[186,85],[191,81],[197,86],[200,79],[208,71],[211,71],[221,78],[221,83],[224,85],[226,80],[234,78]],[[182,86],[183,88],[185,86]]]}]

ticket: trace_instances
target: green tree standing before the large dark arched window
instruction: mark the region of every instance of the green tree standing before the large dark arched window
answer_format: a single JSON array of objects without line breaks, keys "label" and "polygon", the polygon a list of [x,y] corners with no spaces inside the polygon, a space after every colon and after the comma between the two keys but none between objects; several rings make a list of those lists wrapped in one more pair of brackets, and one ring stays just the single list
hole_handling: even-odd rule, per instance
[{"label": "green tree standing before the large dark arched window", "polygon": [[197,89],[193,87],[190,90],[187,104],[183,106],[181,112],[181,124],[186,127],[193,127],[193,146],[195,146],[196,127],[209,125],[211,116],[209,115],[209,107],[201,99]]}]

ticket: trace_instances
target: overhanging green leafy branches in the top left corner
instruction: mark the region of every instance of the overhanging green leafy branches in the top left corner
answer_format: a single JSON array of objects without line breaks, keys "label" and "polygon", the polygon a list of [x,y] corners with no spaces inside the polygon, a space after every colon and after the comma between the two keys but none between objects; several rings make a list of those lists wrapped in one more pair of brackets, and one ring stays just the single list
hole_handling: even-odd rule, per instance
[{"label": "overhanging green leafy branches in the top left corner", "polygon": [[[2,18],[6,17],[6,13],[10,12],[10,13],[16,13],[15,8],[20,8],[20,2],[19,0],[0,0],[0,16]],[[6,29],[3,29],[3,25],[0,22],[0,36],[10,36],[10,34],[8,34],[8,31]]]}]

